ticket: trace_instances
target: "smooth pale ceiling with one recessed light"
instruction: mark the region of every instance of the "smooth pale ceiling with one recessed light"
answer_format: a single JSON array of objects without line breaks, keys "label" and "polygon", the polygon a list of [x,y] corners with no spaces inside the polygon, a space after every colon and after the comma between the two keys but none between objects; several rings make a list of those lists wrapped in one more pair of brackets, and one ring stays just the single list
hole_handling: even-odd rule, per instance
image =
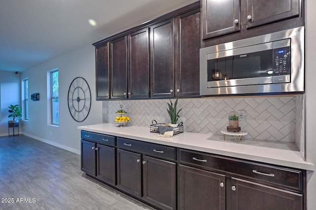
[{"label": "smooth pale ceiling with one recessed light", "polygon": [[25,71],[195,1],[0,0],[0,70]]}]

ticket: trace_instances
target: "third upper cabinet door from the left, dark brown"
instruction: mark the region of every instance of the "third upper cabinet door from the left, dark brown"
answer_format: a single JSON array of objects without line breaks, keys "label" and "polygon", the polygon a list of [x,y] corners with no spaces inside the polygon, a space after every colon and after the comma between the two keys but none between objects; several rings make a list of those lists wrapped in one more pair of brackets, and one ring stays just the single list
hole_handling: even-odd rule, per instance
[{"label": "third upper cabinet door from the left, dark brown", "polygon": [[128,98],[149,98],[149,29],[128,35]]}]

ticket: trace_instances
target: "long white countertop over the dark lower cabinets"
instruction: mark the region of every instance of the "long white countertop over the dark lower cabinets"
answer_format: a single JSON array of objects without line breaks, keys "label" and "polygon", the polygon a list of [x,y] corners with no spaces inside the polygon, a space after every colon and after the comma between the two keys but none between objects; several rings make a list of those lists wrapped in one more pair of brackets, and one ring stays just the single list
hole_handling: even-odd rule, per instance
[{"label": "long white countertop over the dark lower cabinets", "polygon": [[224,141],[221,135],[193,132],[183,132],[171,138],[157,138],[158,133],[151,133],[149,127],[117,127],[117,124],[112,123],[79,126],[78,129],[246,160],[310,171],[315,170],[314,164],[304,161],[295,144],[291,143],[249,139],[242,139],[239,143],[236,143],[233,136],[226,136]]}]

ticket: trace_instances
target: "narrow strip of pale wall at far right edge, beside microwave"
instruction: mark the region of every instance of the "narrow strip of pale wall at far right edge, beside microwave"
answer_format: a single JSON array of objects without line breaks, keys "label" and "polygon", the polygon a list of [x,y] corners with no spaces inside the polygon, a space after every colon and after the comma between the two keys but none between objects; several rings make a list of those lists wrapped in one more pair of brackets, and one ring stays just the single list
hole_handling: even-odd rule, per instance
[{"label": "narrow strip of pale wall at far right edge, beside microwave", "polygon": [[[316,164],[316,1],[306,0],[305,90],[306,90],[306,160]],[[316,173],[307,174],[307,209],[316,208]]]}]

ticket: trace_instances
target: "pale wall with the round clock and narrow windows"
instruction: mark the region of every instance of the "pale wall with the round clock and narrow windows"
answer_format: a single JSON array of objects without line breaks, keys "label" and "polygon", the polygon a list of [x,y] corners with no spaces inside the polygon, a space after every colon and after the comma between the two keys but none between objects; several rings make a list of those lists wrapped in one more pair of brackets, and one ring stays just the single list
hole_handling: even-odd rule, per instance
[{"label": "pale wall with the round clock and narrow windows", "polygon": [[[50,100],[47,93],[47,72],[59,70],[59,126],[50,125]],[[68,89],[76,77],[83,77],[91,90],[91,109],[83,122],[75,121],[68,109]],[[95,54],[89,44],[63,56],[49,60],[22,72],[21,79],[29,79],[29,98],[40,93],[40,101],[29,101],[29,120],[23,120],[23,134],[57,147],[80,152],[80,125],[102,122],[102,102],[95,100]],[[48,83],[48,84],[47,84]]]}]

